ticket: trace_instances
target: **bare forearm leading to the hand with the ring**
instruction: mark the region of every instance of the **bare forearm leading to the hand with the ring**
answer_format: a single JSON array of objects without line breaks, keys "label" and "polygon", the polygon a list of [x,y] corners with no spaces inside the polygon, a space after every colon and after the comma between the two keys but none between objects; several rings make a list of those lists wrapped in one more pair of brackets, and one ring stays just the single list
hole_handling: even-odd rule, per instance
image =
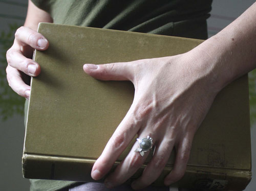
[{"label": "bare forearm leading to the hand with the ring", "polygon": [[256,3],[221,32],[197,46],[191,55],[211,83],[222,89],[256,67]]}]

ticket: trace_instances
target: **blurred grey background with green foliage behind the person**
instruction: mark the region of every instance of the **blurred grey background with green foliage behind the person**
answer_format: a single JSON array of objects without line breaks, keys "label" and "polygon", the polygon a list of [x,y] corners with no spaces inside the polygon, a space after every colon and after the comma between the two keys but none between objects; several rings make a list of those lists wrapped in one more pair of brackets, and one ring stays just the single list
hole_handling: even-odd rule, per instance
[{"label": "blurred grey background with green foliage behind the person", "polygon": [[[16,29],[23,25],[27,0],[0,0],[0,190],[29,190],[22,176],[24,144],[24,102],[8,86],[5,54],[13,43]],[[208,19],[208,35],[215,35],[241,15],[255,1],[214,0]],[[254,23],[253,23],[254,25]],[[252,180],[246,191],[256,188],[256,70],[249,73]]]}]

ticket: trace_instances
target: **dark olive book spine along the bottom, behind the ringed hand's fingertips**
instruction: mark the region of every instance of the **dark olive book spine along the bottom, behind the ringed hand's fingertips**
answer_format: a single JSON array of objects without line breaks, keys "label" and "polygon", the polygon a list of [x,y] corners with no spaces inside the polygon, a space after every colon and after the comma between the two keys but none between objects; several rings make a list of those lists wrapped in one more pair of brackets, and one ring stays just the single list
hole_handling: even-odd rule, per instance
[{"label": "dark olive book spine along the bottom, behind the ringed hand's fingertips", "polygon": [[[30,179],[103,182],[103,179],[95,181],[91,178],[94,162],[94,159],[24,154],[23,176]],[[117,164],[118,162],[115,165]],[[137,179],[142,174],[144,168],[145,165],[142,165],[141,169],[127,180],[126,183],[130,184],[133,180]],[[160,177],[153,184],[163,185],[164,177],[171,170],[172,166],[166,166]],[[241,171],[188,165],[184,177],[172,186],[210,190],[243,190],[250,180],[251,172],[249,170]]]}]

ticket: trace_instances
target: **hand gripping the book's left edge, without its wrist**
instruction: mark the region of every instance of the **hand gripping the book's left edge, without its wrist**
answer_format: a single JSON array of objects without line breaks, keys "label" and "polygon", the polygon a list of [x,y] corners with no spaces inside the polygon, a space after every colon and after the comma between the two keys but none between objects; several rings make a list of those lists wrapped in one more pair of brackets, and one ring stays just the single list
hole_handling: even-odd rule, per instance
[{"label": "hand gripping the book's left edge, without its wrist", "polygon": [[39,64],[31,59],[34,49],[45,51],[48,46],[48,40],[40,33],[28,27],[17,29],[14,43],[6,53],[6,74],[9,86],[19,96],[27,99],[30,97],[31,88],[25,83],[25,76],[34,77],[40,74]]}]

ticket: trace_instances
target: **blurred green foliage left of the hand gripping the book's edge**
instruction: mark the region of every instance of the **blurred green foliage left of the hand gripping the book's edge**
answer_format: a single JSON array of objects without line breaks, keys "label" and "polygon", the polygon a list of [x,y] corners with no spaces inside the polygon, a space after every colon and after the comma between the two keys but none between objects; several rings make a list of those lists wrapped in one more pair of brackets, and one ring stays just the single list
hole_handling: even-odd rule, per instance
[{"label": "blurred green foliage left of the hand gripping the book's edge", "polygon": [[6,52],[12,46],[14,33],[19,26],[16,23],[9,25],[9,31],[0,32],[0,121],[11,118],[14,114],[24,115],[25,99],[18,96],[8,85],[6,79]]}]

